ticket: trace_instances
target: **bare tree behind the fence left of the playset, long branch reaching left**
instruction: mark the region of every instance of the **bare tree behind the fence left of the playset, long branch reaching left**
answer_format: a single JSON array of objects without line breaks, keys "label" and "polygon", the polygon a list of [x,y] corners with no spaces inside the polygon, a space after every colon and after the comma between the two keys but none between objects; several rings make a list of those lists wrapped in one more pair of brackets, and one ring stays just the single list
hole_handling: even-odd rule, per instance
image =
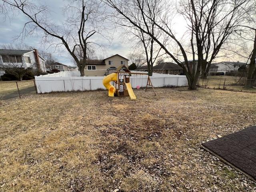
[{"label": "bare tree behind the fence left of the playset, long branch reaching left", "polygon": [[[64,46],[78,66],[81,76],[84,76],[84,67],[88,58],[90,44],[102,46],[93,40],[93,36],[107,32],[104,21],[106,8],[99,0],[71,0],[62,9],[65,20],[62,24],[53,22],[50,10],[46,5],[38,5],[32,0],[0,0],[0,10],[5,16],[23,13],[28,22],[24,24],[21,36],[31,35],[33,32],[43,32],[44,42],[56,47]],[[108,40],[109,38],[106,38]],[[76,53],[82,50],[82,60]]]}]

